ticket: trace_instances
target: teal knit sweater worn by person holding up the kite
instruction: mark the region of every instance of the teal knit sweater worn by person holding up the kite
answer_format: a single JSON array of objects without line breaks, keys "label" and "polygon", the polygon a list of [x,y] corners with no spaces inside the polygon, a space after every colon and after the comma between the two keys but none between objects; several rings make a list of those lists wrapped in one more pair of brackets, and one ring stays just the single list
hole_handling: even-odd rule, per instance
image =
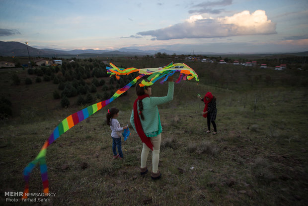
[{"label": "teal knit sweater worn by person holding up the kite", "polygon": [[[162,131],[157,105],[162,104],[162,103],[167,103],[173,100],[174,82],[168,82],[168,86],[169,87],[168,87],[167,96],[150,97],[150,98],[145,98],[142,100],[142,104],[143,104],[142,113],[145,119],[142,120],[140,115],[139,115],[139,118],[142,124],[143,131],[148,137],[157,136]],[[137,103],[137,105],[139,109],[139,104]],[[134,130],[136,131],[135,121],[134,121],[134,109],[132,110],[130,121],[131,121],[131,124]]]}]

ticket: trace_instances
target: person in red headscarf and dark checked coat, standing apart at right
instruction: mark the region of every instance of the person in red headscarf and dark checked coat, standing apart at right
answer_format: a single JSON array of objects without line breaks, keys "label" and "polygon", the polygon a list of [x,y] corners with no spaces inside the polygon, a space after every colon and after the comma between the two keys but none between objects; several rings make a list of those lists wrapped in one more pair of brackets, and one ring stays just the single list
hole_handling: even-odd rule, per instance
[{"label": "person in red headscarf and dark checked coat, standing apart at right", "polygon": [[217,134],[217,128],[216,128],[216,123],[215,123],[216,114],[217,114],[216,97],[213,96],[212,93],[208,92],[204,96],[203,99],[200,96],[198,96],[198,98],[200,98],[201,101],[205,103],[202,116],[204,118],[207,118],[208,120],[208,131],[206,131],[206,133],[211,132],[211,122],[212,122],[213,127],[214,127],[213,134]]}]

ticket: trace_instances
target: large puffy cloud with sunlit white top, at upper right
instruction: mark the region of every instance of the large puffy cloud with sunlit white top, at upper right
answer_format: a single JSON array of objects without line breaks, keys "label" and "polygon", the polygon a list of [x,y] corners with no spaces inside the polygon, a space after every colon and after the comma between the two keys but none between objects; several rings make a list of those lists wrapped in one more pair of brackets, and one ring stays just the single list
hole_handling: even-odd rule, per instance
[{"label": "large puffy cloud with sunlit white top, at upper right", "polygon": [[183,23],[137,34],[152,36],[156,40],[169,40],[275,33],[277,33],[276,24],[267,18],[264,10],[256,10],[253,13],[242,11],[216,19],[193,15]]}]

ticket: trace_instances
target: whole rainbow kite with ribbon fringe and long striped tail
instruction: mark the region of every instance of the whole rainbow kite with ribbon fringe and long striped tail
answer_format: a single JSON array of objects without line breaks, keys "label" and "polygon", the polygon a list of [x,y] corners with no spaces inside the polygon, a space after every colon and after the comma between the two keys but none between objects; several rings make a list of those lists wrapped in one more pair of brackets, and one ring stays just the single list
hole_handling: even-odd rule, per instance
[{"label": "whole rainbow kite with ribbon fringe and long striped tail", "polygon": [[136,84],[136,82],[140,78],[142,78],[146,75],[150,75],[147,78],[149,82],[143,80],[141,82],[141,85],[142,86],[151,86],[151,85],[154,84],[154,82],[156,82],[160,78],[164,77],[164,79],[161,81],[161,83],[162,83],[162,82],[166,81],[167,78],[169,76],[173,75],[175,72],[180,72],[180,76],[176,81],[177,83],[180,82],[181,79],[191,80],[191,79],[195,78],[196,81],[199,81],[198,75],[195,73],[195,71],[193,69],[191,69],[190,67],[188,67],[185,64],[180,64],[180,63],[173,64],[173,62],[172,62],[165,67],[146,68],[146,69],[136,69],[136,68],[124,69],[124,68],[118,68],[115,65],[113,65],[112,63],[110,63],[110,65],[112,66],[112,68],[106,67],[108,74],[110,74],[110,76],[116,75],[117,79],[120,79],[119,75],[129,75],[133,72],[139,72],[140,75],[138,77],[136,77],[132,82],[130,82],[129,84],[127,84],[123,88],[116,91],[116,93],[114,93],[114,95],[110,99],[105,100],[103,102],[92,104],[92,105],[90,105],[90,106],[88,106],[88,107],[86,107],[86,108],[84,108],[80,111],[77,111],[74,114],[71,114],[70,116],[65,118],[54,129],[53,133],[49,136],[47,141],[44,143],[44,145],[41,148],[37,157],[32,162],[30,162],[23,170],[23,177],[24,177],[26,185],[25,185],[25,189],[24,189],[22,198],[24,198],[24,199],[28,198],[30,173],[32,172],[32,170],[36,166],[36,164],[40,165],[40,172],[41,172],[43,188],[44,188],[43,193],[45,195],[48,195],[48,193],[49,193],[49,182],[48,182],[47,165],[46,165],[47,147],[49,145],[51,145],[57,138],[59,138],[59,136],[61,134],[68,131],[70,128],[75,126],[77,123],[86,119],[87,117],[94,114],[96,111],[103,108],[104,106],[106,106],[107,104],[111,103],[116,98],[118,98],[120,95],[125,93],[129,88],[131,88],[134,84]]}]

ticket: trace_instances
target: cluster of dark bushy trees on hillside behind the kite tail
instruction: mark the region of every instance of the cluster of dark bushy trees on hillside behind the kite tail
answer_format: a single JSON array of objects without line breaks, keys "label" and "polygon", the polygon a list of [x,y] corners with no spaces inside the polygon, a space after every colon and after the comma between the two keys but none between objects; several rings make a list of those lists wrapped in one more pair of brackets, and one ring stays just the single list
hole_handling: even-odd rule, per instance
[{"label": "cluster of dark bushy trees on hillside behind the kite tail", "polygon": [[[43,77],[44,81],[52,80],[54,84],[58,84],[58,90],[54,91],[53,97],[61,99],[61,105],[67,107],[70,105],[69,98],[76,96],[79,96],[76,102],[78,105],[109,99],[114,94],[114,89],[124,87],[134,78],[129,75],[116,80],[113,76],[106,82],[104,77],[109,75],[105,68],[103,63],[89,61],[82,65],[69,63],[56,67],[30,68],[27,72],[29,75],[37,75],[37,78]],[[31,79],[26,78],[25,84],[32,84]],[[97,92],[98,87],[104,92],[102,95]],[[91,93],[96,93],[95,98]]]}]

